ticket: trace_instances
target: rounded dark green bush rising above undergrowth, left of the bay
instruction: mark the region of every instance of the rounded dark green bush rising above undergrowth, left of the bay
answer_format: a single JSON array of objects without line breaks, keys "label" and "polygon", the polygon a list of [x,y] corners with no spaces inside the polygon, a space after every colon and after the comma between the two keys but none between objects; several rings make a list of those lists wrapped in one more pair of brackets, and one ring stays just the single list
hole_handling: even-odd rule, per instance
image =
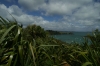
[{"label": "rounded dark green bush rising above undergrowth, left of the bay", "polygon": [[36,25],[29,25],[23,29],[25,39],[37,39],[47,37],[47,32],[43,28]]}]

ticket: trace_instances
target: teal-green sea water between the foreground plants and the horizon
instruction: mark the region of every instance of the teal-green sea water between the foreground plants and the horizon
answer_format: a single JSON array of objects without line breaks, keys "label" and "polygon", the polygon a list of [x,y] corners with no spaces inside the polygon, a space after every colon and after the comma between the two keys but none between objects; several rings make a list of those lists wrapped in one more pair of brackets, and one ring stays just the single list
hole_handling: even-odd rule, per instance
[{"label": "teal-green sea water between the foreground plants and the horizon", "polygon": [[82,43],[84,41],[83,37],[86,36],[87,34],[92,34],[92,33],[91,32],[74,32],[73,35],[53,35],[53,37],[67,43],[71,43],[74,41],[78,43]]}]

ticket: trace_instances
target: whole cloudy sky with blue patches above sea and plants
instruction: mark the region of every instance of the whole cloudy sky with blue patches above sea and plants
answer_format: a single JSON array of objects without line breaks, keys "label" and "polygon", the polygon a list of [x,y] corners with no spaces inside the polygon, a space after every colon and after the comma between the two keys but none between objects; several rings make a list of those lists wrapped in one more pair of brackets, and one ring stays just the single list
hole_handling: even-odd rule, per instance
[{"label": "whole cloudy sky with blue patches above sea and plants", "polygon": [[0,16],[23,27],[36,24],[45,30],[100,30],[100,0],[0,0]]}]

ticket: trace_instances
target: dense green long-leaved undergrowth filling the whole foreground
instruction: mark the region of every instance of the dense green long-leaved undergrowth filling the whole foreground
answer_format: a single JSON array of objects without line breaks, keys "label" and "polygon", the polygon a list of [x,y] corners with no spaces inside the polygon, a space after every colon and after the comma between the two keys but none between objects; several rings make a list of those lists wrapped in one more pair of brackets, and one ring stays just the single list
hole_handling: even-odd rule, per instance
[{"label": "dense green long-leaved undergrowth filling the whole foreground", "polygon": [[[91,42],[89,42],[89,41]],[[0,66],[100,66],[100,32],[82,44],[54,39],[40,26],[0,17]]]}]

